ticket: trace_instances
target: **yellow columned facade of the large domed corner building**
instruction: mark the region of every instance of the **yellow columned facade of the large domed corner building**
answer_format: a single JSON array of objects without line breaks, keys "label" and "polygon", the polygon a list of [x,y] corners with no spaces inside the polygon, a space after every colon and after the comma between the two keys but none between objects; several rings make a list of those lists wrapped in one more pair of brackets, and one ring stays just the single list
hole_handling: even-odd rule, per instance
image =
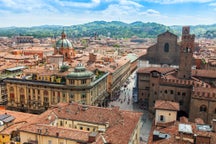
[{"label": "yellow columned facade of the large domed corner building", "polygon": [[[42,77],[38,76],[37,78]],[[48,76],[46,79],[53,81],[55,76]],[[86,79],[87,83],[90,84],[91,79]],[[60,81],[59,81],[60,82]],[[7,92],[8,92],[8,106],[13,108],[15,107],[24,107],[25,109],[29,110],[43,110],[46,104],[46,107],[50,105],[55,105],[58,102],[77,102],[80,104],[87,104],[87,105],[97,105],[98,98],[102,98],[103,93],[106,92],[106,78],[98,82],[92,88],[84,88],[85,90],[72,90],[69,89],[68,86],[65,88],[61,87],[52,87],[52,86],[44,86],[44,85],[29,85],[28,83],[7,83]],[[75,84],[81,84],[81,80],[75,80]],[[83,86],[89,86],[88,84],[83,84]],[[14,89],[14,104],[11,104],[10,100],[10,88],[13,87]],[[20,89],[24,89],[24,103],[20,103]],[[44,103],[44,91],[48,91],[47,95],[47,103]],[[60,93],[60,94],[59,94]],[[82,94],[85,94],[86,97],[82,98]],[[73,95],[73,98],[70,96]],[[30,98],[30,99],[29,99]],[[40,98],[40,99],[39,99]],[[96,102],[96,103],[95,103]],[[15,103],[18,103],[15,104]]]}]

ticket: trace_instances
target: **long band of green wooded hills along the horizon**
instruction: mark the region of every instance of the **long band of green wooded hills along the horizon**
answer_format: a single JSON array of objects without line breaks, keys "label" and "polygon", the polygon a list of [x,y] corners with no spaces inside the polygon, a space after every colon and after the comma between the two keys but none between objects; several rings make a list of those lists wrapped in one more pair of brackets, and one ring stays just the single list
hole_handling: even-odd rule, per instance
[{"label": "long band of green wooded hills along the horizon", "polygon": [[[43,25],[35,27],[8,27],[0,28],[0,36],[12,37],[15,35],[30,35],[36,38],[57,37],[60,36],[64,26]],[[182,26],[165,26],[158,23],[133,22],[130,24],[120,21],[95,21],[82,25],[73,25],[64,27],[68,37],[91,37],[108,36],[112,38],[130,38],[138,36],[140,38],[154,38],[158,34],[167,30],[174,34],[181,35]],[[191,33],[197,37],[215,38],[216,24],[191,26]]]}]

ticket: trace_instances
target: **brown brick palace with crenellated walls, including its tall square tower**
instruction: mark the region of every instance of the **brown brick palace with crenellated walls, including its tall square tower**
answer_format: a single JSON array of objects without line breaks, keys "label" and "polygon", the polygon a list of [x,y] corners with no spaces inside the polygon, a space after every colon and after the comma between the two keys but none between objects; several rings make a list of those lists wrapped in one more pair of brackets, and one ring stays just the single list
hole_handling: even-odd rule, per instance
[{"label": "brown brick palace with crenellated walls, including its tall square tower", "polygon": [[179,68],[140,68],[137,72],[138,99],[154,114],[156,100],[177,102],[178,117],[193,121],[202,118],[210,123],[216,118],[216,81],[213,70],[191,69],[195,35],[183,27],[179,48]]}]

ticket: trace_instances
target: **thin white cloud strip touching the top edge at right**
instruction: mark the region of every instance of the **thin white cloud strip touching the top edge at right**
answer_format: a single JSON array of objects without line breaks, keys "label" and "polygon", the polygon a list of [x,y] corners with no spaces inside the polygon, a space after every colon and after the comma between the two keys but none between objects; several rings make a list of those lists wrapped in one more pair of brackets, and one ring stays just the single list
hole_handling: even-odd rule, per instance
[{"label": "thin white cloud strip touching the top edge at right", "polygon": [[195,3],[207,3],[214,0],[144,0],[147,2],[153,2],[153,3],[160,3],[160,4],[176,4],[176,3],[189,3],[189,2],[195,2]]}]

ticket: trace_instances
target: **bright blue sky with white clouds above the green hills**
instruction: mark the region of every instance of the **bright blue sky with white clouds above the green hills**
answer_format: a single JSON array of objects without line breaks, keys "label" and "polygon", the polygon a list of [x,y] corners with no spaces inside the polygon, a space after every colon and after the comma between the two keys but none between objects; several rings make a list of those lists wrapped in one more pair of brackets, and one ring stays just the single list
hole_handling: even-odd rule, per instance
[{"label": "bright blue sky with white clouds above the green hills", "polygon": [[0,27],[96,20],[165,25],[216,23],[216,0],[0,0]]}]

